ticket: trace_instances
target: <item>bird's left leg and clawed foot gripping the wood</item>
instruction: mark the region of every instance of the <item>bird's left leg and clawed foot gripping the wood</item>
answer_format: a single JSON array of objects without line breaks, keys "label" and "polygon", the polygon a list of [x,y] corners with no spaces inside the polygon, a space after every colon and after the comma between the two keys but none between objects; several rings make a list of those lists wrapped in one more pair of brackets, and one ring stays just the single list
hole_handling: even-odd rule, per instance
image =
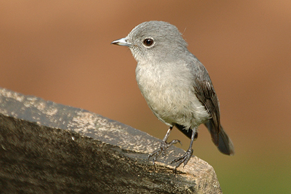
[{"label": "bird's left leg and clawed foot gripping the wood", "polygon": [[158,156],[161,153],[162,153],[162,156],[165,157],[166,149],[168,147],[172,146],[173,144],[177,144],[177,143],[181,144],[181,142],[179,140],[172,140],[171,142],[167,143],[168,137],[169,137],[172,129],[173,129],[173,126],[170,126],[166,135],[162,139],[161,146],[158,149],[156,149],[153,153],[151,153],[147,156],[148,160],[150,157],[153,157],[153,164],[155,164],[155,161],[157,160]]}]

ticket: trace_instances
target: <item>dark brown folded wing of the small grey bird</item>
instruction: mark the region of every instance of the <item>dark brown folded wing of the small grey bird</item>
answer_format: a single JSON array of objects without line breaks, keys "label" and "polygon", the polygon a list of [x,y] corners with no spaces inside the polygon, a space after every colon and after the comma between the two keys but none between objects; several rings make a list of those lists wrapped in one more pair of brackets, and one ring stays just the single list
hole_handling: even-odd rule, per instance
[{"label": "dark brown folded wing of the small grey bird", "polygon": [[208,129],[210,131],[213,143],[217,146],[221,127],[219,102],[214,88],[210,81],[195,79],[194,89],[196,97],[205,106],[207,112],[210,114],[209,121],[212,125]]}]

